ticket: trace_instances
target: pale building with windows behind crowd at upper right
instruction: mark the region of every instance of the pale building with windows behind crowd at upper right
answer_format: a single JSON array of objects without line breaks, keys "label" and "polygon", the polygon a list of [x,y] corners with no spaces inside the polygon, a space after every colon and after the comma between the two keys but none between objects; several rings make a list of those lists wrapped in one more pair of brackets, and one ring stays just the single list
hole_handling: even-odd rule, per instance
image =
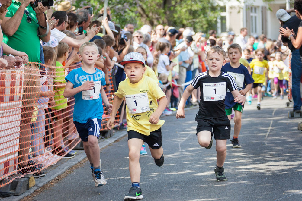
[{"label": "pale building with windows behind crowd at upper right", "polygon": [[220,5],[218,35],[226,36],[228,31],[233,31],[238,36],[240,29],[247,27],[248,35],[260,36],[264,33],[270,39],[278,39],[280,24],[276,11],[280,8],[286,9],[286,0],[275,0],[270,3],[262,0],[230,0],[220,1],[218,4]]}]

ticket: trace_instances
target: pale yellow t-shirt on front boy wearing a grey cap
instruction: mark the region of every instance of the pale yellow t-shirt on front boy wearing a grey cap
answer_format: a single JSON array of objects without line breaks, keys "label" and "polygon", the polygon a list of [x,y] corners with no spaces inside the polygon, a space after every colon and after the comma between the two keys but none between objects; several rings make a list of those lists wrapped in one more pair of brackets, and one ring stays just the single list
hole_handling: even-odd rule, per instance
[{"label": "pale yellow t-shirt on front boy wearing a grey cap", "polygon": [[[125,96],[128,95],[137,95],[137,97],[139,97],[138,94],[141,93],[147,93],[149,102],[141,103],[139,100],[135,98],[129,101],[131,101],[131,103],[134,102],[135,104],[137,103],[143,104],[143,106],[149,104],[150,110],[142,113],[131,114],[128,108],[128,105],[130,104],[128,104],[126,98],[127,131],[134,130],[143,135],[150,135],[150,132],[154,130],[158,130],[160,127],[162,127],[162,125],[165,122],[164,120],[159,120],[157,124],[151,124],[149,122],[150,115],[154,113],[154,111],[158,107],[157,100],[165,96],[165,93],[160,89],[157,82],[145,75],[138,83],[135,84],[130,83],[129,79],[126,79],[120,82],[118,86],[118,90],[114,94],[119,98],[124,98]],[[138,105],[138,107],[139,106],[140,105]]]}]

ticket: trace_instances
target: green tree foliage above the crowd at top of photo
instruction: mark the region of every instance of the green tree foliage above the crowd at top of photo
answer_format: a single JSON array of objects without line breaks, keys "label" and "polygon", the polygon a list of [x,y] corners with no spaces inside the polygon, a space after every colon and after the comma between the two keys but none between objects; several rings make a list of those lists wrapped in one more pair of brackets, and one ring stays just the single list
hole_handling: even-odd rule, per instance
[{"label": "green tree foliage above the crowd at top of photo", "polygon": [[[60,1],[56,1],[59,3]],[[76,8],[93,7],[95,17],[104,6],[104,0],[70,0]],[[219,10],[212,0],[109,0],[112,20],[121,27],[127,23],[137,27],[157,24],[193,27],[196,31],[215,29]]]}]

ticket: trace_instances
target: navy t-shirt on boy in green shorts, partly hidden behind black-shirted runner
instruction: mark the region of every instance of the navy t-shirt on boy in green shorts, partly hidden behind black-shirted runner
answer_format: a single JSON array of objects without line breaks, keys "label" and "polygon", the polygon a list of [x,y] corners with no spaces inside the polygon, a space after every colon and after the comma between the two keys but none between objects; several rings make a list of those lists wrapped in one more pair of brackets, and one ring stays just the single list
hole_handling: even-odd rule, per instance
[{"label": "navy t-shirt on boy in green shorts, partly hidden behind black-shirted runner", "polygon": [[[233,68],[229,62],[221,68],[221,71],[230,74],[234,78],[239,91],[243,90],[246,85],[254,82],[251,74],[249,74],[247,68],[242,64],[240,64],[238,68]],[[226,109],[232,108],[236,104],[234,102],[234,96],[229,91],[226,92],[224,104],[226,105]]]}]

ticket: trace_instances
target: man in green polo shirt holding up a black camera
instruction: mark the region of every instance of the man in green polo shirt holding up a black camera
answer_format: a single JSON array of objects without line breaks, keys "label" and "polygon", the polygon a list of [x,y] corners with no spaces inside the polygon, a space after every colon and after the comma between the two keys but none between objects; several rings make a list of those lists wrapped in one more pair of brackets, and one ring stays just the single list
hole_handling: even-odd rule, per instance
[{"label": "man in green polo shirt holding up a black camera", "polygon": [[[43,5],[41,0],[12,0],[12,4],[8,7],[8,12],[1,23],[3,32],[8,36],[7,45],[15,50],[25,52],[30,62],[41,62],[40,39],[44,42],[48,42],[50,39],[50,31],[44,14],[44,6],[48,6],[47,2],[43,2]],[[26,66],[23,86],[18,168],[20,174],[35,172],[34,177],[40,177],[44,176],[45,173],[28,160],[31,141],[30,121],[41,88],[37,65]]]}]

